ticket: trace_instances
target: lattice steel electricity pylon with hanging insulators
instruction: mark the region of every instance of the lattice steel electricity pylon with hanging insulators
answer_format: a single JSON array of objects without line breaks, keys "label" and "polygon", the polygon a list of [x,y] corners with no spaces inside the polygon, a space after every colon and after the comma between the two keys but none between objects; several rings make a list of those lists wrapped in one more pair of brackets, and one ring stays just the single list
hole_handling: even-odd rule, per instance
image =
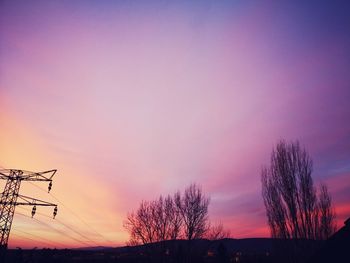
[{"label": "lattice steel electricity pylon with hanging insulators", "polygon": [[[0,170],[0,179],[7,180],[0,199],[0,250],[7,249],[7,242],[10,236],[15,208],[17,205],[29,205],[32,208],[32,217],[35,214],[36,206],[53,206],[53,218],[57,214],[57,204],[48,203],[39,199],[19,194],[22,181],[50,182],[48,192],[52,187],[52,177],[57,170],[45,172],[28,172],[15,169]],[[18,200],[18,201],[17,201]]]}]

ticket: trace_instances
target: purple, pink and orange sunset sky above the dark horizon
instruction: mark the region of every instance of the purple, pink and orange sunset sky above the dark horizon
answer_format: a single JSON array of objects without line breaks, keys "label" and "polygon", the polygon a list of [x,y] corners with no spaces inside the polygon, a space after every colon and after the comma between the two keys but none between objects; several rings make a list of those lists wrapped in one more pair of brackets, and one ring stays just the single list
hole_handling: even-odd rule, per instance
[{"label": "purple, pink and orange sunset sky above the dark horizon", "polygon": [[260,172],[280,139],[308,150],[342,226],[349,13],[345,1],[1,1],[0,165],[58,170],[50,194],[20,190],[58,203],[56,219],[17,207],[9,246],[124,245],[128,212],[191,183],[232,237],[268,237]]}]

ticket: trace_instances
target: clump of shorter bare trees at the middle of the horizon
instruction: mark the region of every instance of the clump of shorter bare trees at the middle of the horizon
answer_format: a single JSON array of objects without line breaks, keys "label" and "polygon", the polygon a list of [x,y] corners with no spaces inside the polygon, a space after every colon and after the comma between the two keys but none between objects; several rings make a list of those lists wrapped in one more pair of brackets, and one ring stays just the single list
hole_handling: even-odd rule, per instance
[{"label": "clump of shorter bare trees at the middle of the horizon", "polygon": [[174,240],[181,233],[188,239],[201,238],[207,232],[207,198],[200,187],[190,185],[181,196],[160,196],[157,200],[142,201],[136,212],[129,213],[124,227],[130,233],[129,245]]}]

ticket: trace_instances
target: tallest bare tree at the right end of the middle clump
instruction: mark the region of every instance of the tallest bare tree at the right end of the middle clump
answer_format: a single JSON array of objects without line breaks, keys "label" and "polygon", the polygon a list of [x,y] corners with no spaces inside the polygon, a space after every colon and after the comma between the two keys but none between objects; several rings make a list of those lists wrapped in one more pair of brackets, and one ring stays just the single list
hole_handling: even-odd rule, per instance
[{"label": "tallest bare tree at the right end of the middle clump", "polygon": [[209,198],[196,184],[185,189],[184,195],[177,200],[183,223],[184,236],[188,240],[201,238],[208,230]]}]

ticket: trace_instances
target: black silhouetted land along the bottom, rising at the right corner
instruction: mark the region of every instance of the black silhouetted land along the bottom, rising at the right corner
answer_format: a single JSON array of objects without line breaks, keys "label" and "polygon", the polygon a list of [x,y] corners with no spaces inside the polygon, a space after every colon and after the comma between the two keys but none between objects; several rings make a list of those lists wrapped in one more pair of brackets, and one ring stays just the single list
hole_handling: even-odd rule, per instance
[{"label": "black silhouetted land along the bottom, rising at the right corner", "polygon": [[[304,248],[302,257],[292,253]],[[305,250],[305,248],[307,248]],[[81,249],[10,249],[6,262],[120,262],[120,263],[215,263],[215,262],[349,262],[350,219],[326,241],[247,238],[221,240],[170,240],[141,246]],[[307,254],[305,251],[308,251]],[[300,255],[299,255],[300,256]],[[300,260],[301,258],[301,260]],[[2,262],[1,262],[2,263]]]}]

